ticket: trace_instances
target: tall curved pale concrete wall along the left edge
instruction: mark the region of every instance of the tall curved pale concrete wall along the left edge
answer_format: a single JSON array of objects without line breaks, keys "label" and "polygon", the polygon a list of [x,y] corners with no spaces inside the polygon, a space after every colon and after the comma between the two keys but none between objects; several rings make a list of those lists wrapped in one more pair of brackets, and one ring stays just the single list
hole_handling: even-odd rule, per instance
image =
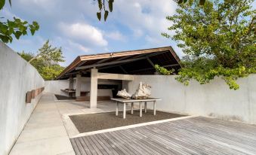
[{"label": "tall curved pale concrete wall along the left edge", "polygon": [[0,41],[0,154],[8,154],[40,95],[26,104],[26,92],[44,87],[32,65]]}]

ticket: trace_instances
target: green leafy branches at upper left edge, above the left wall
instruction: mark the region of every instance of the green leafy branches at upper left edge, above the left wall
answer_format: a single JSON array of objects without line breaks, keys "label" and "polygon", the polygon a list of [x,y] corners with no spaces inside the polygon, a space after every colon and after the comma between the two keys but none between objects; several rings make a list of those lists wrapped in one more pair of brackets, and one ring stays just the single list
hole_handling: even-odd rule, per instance
[{"label": "green leafy branches at upper left edge, above the left wall", "polygon": [[[11,0],[9,0],[9,4],[11,5]],[[0,0],[0,11],[4,6],[5,0]],[[0,17],[0,40],[4,43],[13,41],[13,37],[19,39],[21,35],[27,35],[28,31],[34,35],[35,31],[39,30],[39,24],[35,21],[29,24],[27,21],[22,21],[17,17],[14,17],[14,20],[5,22],[3,19],[3,17]]]}]

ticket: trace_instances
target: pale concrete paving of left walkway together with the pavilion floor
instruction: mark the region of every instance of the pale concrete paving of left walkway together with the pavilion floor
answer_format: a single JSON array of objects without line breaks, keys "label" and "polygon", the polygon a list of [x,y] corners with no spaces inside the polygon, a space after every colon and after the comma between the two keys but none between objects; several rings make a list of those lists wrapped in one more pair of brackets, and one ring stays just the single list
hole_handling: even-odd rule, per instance
[{"label": "pale concrete paving of left walkway together with the pavilion floor", "polygon": [[[114,102],[99,101],[97,108],[89,108],[89,102],[56,101],[54,94],[44,93],[29,117],[11,155],[75,154],[69,136],[77,135],[69,114],[88,114],[114,111]],[[70,121],[68,121],[70,120]]]}]

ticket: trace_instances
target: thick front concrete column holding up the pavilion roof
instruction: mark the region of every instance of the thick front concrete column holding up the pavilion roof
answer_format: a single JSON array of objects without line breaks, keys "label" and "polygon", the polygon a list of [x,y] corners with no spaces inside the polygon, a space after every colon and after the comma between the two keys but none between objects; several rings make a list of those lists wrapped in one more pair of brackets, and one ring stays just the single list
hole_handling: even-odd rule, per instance
[{"label": "thick front concrete column holding up the pavilion roof", "polygon": [[97,69],[91,69],[90,108],[97,108]]}]

